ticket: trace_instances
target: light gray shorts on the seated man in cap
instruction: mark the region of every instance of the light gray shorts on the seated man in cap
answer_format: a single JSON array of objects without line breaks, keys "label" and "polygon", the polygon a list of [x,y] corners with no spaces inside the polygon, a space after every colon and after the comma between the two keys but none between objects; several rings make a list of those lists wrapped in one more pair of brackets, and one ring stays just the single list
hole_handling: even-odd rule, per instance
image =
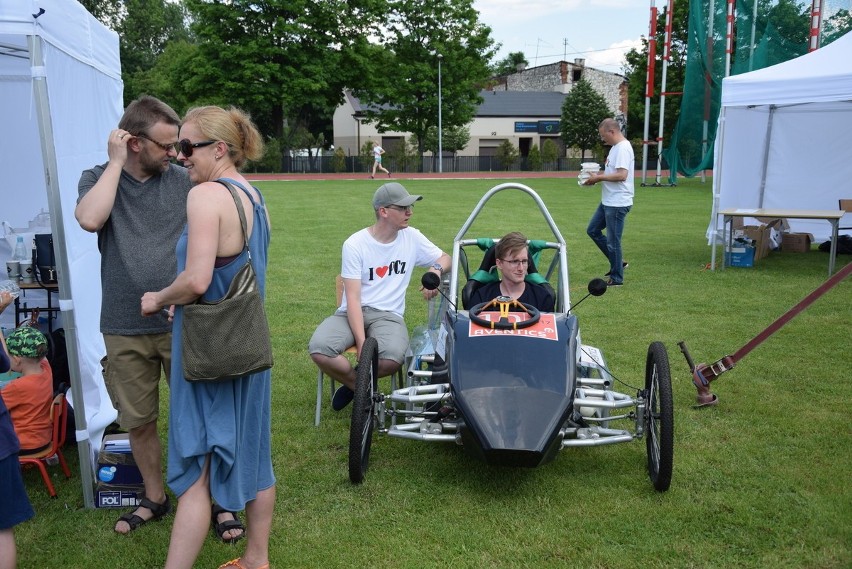
[{"label": "light gray shorts on the seated man in cap", "polygon": [[[368,338],[379,342],[379,359],[405,362],[408,351],[408,329],[397,314],[385,310],[364,308],[364,327]],[[322,321],[308,342],[308,352],[330,358],[339,356],[355,345],[355,336],[349,328],[345,312],[335,312]]]}]

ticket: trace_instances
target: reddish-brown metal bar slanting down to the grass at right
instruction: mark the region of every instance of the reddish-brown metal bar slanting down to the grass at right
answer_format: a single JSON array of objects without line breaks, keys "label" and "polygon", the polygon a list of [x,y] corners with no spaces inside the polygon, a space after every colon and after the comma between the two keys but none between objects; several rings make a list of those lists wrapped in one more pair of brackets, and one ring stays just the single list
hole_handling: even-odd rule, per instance
[{"label": "reddish-brown metal bar slanting down to the grass at right", "polygon": [[812,293],[810,293],[808,296],[799,301],[796,306],[782,314],[775,322],[767,326],[760,334],[749,340],[746,345],[737,350],[734,355],[724,356],[722,359],[712,364],[708,365],[702,363],[695,365],[695,363],[692,361],[692,356],[690,356],[689,354],[689,349],[686,347],[686,342],[678,342],[678,346],[680,346],[680,351],[683,352],[683,356],[686,358],[686,363],[687,365],[689,365],[689,370],[692,372],[692,383],[698,390],[698,395],[695,398],[695,406],[704,407],[708,405],[716,405],[719,402],[719,398],[716,397],[715,394],[710,392],[711,381],[713,381],[726,371],[733,369],[737,362],[743,359],[746,354],[748,354],[757,346],[762,344],[764,340],[769,338],[769,336],[777,332],[782,326],[792,320],[793,317],[795,317],[805,308],[813,304],[816,299],[831,290],[834,286],[836,286],[850,274],[852,274],[852,263],[849,263],[848,265],[843,267],[840,271],[835,273],[834,276],[829,278],[827,281],[818,286]]}]

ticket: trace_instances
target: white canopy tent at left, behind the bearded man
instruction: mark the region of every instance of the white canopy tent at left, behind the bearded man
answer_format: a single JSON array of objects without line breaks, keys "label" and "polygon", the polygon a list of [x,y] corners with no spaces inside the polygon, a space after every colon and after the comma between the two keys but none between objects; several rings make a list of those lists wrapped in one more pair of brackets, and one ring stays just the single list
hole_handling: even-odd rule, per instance
[{"label": "white canopy tent at left, behind the bearded man", "polygon": [[[116,412],[100,366],[97,239],[80,229],[74,207],[80,173],[107,160],[106,140],[123,112],[122,90],[118,36],[75,0],[0,3],[0,220],[9,231],[50,213],[69,399],[90,508],[95,453]],[[7,240],[0,240],[0,262],[10,253]]]}]

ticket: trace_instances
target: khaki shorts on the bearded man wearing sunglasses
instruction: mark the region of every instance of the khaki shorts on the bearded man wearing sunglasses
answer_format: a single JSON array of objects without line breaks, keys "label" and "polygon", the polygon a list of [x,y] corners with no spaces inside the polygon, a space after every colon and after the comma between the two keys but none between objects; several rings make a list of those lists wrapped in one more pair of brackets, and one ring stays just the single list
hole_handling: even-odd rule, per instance
[{"label": "khaki shorts on the bearded man wearing sunglasses", "polygon": [[101,360],[104,382],[118,424],[135,429],[156,421],[160,412],[160,377],[169,381],[172,334],[115,336],[104,334],[107,355]]}]

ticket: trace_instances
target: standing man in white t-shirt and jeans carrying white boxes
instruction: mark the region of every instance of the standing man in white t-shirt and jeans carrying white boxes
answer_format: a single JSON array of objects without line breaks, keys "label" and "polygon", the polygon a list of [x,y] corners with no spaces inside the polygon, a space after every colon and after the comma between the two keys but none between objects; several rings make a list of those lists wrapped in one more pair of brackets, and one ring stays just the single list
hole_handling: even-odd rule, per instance
[{"label": "standing man in white t-shirt and jeans carrying white boxes", "polygon": [[[627,261],[621,254],[621,234],[624,221],[633,206],[633,147],[621,133],[615,119],[604,119],[598,126],[604,144],[610,145],[606,165],[601,174],[592,174],[584,185],[593,186],[601,182],[601,203],[589,220],[586,233],[609,260],[607,286],[624,284],[624,269]],[[606,235],[603,230],[606,229]]]}]

